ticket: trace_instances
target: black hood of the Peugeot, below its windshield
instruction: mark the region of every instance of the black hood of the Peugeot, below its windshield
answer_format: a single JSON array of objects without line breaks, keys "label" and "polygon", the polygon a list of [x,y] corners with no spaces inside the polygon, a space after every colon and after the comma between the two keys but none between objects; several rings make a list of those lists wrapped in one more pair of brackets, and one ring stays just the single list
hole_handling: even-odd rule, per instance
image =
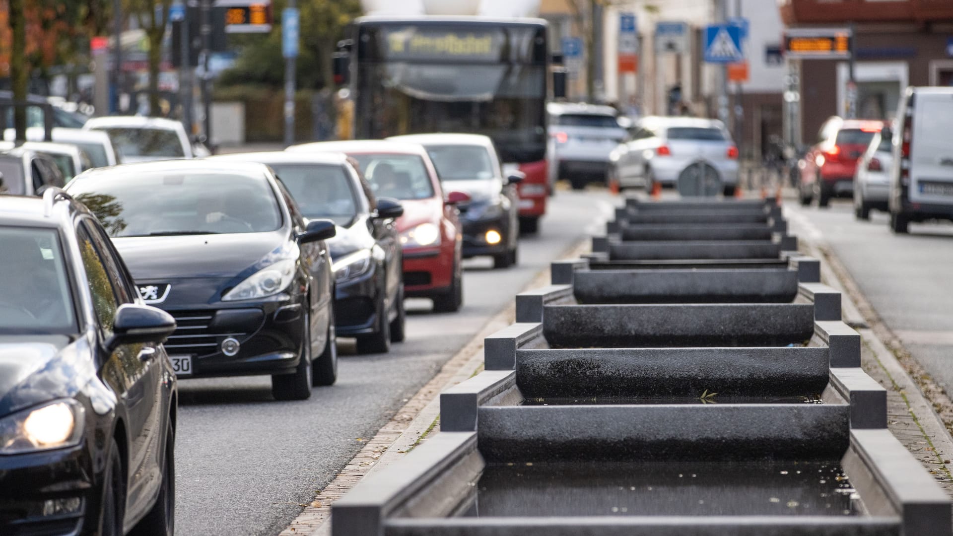
[{"label": "black hood of the Peugeot, below its windshield", "polygon": [[182,237],[115,237],[135,280],[176,278],[234,278],[297,257],[286,231],[189,235]]}]

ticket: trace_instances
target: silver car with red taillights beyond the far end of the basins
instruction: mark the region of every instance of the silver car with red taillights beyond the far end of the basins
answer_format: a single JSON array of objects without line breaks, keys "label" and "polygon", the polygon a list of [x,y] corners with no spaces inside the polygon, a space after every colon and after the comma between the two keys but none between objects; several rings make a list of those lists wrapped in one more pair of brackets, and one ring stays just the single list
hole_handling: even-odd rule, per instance
[{"label": "silver car with red taillights beyond the far end of the basins", "polygon": [[675,186],[696,173],[717,180],[725,196],[738,185],[738,147],[713,119],[643,117],[610,156],[620,188]]}]

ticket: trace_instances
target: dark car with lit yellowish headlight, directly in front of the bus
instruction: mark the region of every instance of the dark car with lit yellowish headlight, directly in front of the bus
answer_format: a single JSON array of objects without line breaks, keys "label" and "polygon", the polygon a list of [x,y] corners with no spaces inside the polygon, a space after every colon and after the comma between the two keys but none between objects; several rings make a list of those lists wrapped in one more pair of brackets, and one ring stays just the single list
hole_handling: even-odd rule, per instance
[{"label": "dark car with lit yellowish headlight, directly in front of the bus", "polygon": [[521,172],[503,174],[493,140],[480,134],[409,134],[391,137],[419,143],[434,161],[446,192],[470,196],[459,203],[463,257],[490,256],[494,268],[517,263]]}]

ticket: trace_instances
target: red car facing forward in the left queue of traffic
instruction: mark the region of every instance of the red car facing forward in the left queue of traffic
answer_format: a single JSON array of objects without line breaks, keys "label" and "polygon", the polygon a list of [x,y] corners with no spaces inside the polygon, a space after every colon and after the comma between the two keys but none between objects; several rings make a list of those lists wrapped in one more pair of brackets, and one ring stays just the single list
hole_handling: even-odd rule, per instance
[{"label": "red car facing forward in the left queue of traffic", "polygon": [[325,141],[294,145],[294,152],[335,152],[353,157],[377,197],[404,207],[397,232],[404,257],[404,295],[434,300],[434,311],[450,313],[463,304],[463,234],[456,203],[466,194],[444,194],[423,146],[385,140]]}]

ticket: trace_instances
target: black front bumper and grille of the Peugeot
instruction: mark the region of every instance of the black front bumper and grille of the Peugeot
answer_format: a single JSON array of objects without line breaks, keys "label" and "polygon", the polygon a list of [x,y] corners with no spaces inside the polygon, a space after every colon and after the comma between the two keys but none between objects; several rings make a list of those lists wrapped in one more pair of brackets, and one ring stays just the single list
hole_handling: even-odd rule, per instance
[{"label": "black front bumper and grille of the Peugeot", "polygon": [[[240,307],[196,304],[167,309],[178,327],[166,351],[170,356],[193,356],[193,374],[180,378],[290,374],[304,340],[305,307],[303,297],[282,294]],[[221,350],[227,339],[239,342],[233,356]]]}]

